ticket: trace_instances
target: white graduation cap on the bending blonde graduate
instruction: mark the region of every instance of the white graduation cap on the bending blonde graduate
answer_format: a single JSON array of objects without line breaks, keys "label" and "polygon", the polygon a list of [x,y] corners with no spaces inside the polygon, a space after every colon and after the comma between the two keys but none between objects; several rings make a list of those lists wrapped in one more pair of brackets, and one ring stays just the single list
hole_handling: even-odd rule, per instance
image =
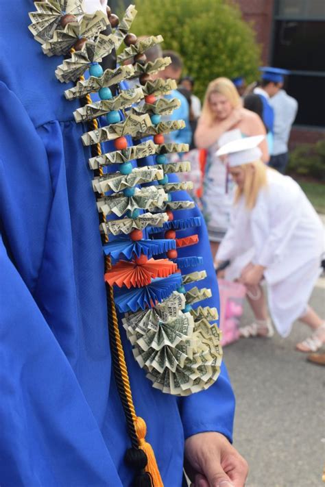
[{"label": "white graduation cap on the bending blonde graduate", "polygon": [[237,140],[232,140],[225,145],[222,145],[217,150],[216,154],[228,155],[227,162],[230,167],[241,166],[241,164],[249,164],[261,159],[262,151],[258,147],[265,136],[244,137]]}]

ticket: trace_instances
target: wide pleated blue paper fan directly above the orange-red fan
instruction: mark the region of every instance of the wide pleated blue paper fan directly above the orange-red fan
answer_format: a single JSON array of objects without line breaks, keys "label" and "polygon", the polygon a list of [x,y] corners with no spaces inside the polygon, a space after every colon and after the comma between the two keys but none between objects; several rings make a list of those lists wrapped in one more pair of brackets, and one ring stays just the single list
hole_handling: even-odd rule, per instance
[{"label": "wide pleated blue paper fan directly above the orange-red fan", "polygon": [[130,238],[123,238],[108,242],[103,249],[104,253],[110,255],[114,260],[118,260],[121,254],[127,260],[130,260],[134,256],[133,253],[135,253],[136,257],[140,257],[141,253],[144,253],[150,258],[152,255],[176,249],[176,240],[165,238],[162,240],[137,240],[134,242]]}]

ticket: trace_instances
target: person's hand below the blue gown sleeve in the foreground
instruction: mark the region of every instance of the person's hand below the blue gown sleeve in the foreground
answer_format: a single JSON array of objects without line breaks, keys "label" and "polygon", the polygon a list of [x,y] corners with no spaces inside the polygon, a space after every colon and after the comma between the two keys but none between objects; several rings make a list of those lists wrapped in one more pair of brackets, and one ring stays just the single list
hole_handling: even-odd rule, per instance
[{"label": "person's hand below the blue gown sleeve in the foreground", "polygon": [[247,462],[216,432],[186,439],[184,468],[193,487],[243,487],[248,475]]}]

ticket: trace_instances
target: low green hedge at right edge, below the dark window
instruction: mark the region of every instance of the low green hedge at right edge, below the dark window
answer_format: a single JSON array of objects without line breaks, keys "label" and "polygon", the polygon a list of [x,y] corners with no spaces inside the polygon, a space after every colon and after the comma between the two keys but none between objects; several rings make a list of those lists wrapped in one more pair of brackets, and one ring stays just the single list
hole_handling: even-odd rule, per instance
[{"label": "low green hedge at right edge, below the dark window", "polygon": [[290,153],[288,173],[325,181],[325,140],[298,145]]}]

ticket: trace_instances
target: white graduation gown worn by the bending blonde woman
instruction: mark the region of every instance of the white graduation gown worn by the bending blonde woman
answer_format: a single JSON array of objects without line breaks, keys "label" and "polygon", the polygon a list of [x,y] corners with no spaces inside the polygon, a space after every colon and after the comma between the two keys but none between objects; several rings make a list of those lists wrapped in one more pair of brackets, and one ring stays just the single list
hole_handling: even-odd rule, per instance
[{"label": "white graduation gown worn by the bending blonde woman", "polygon": [[243,197],[217,252],[230,260],[228,279],[236,279],[249,262],[265,266],[269,312],[282,336],[306,310],[320,275],[324,227],[300,186],[289,176],[267,169],[267,186],[253,210]]}]

